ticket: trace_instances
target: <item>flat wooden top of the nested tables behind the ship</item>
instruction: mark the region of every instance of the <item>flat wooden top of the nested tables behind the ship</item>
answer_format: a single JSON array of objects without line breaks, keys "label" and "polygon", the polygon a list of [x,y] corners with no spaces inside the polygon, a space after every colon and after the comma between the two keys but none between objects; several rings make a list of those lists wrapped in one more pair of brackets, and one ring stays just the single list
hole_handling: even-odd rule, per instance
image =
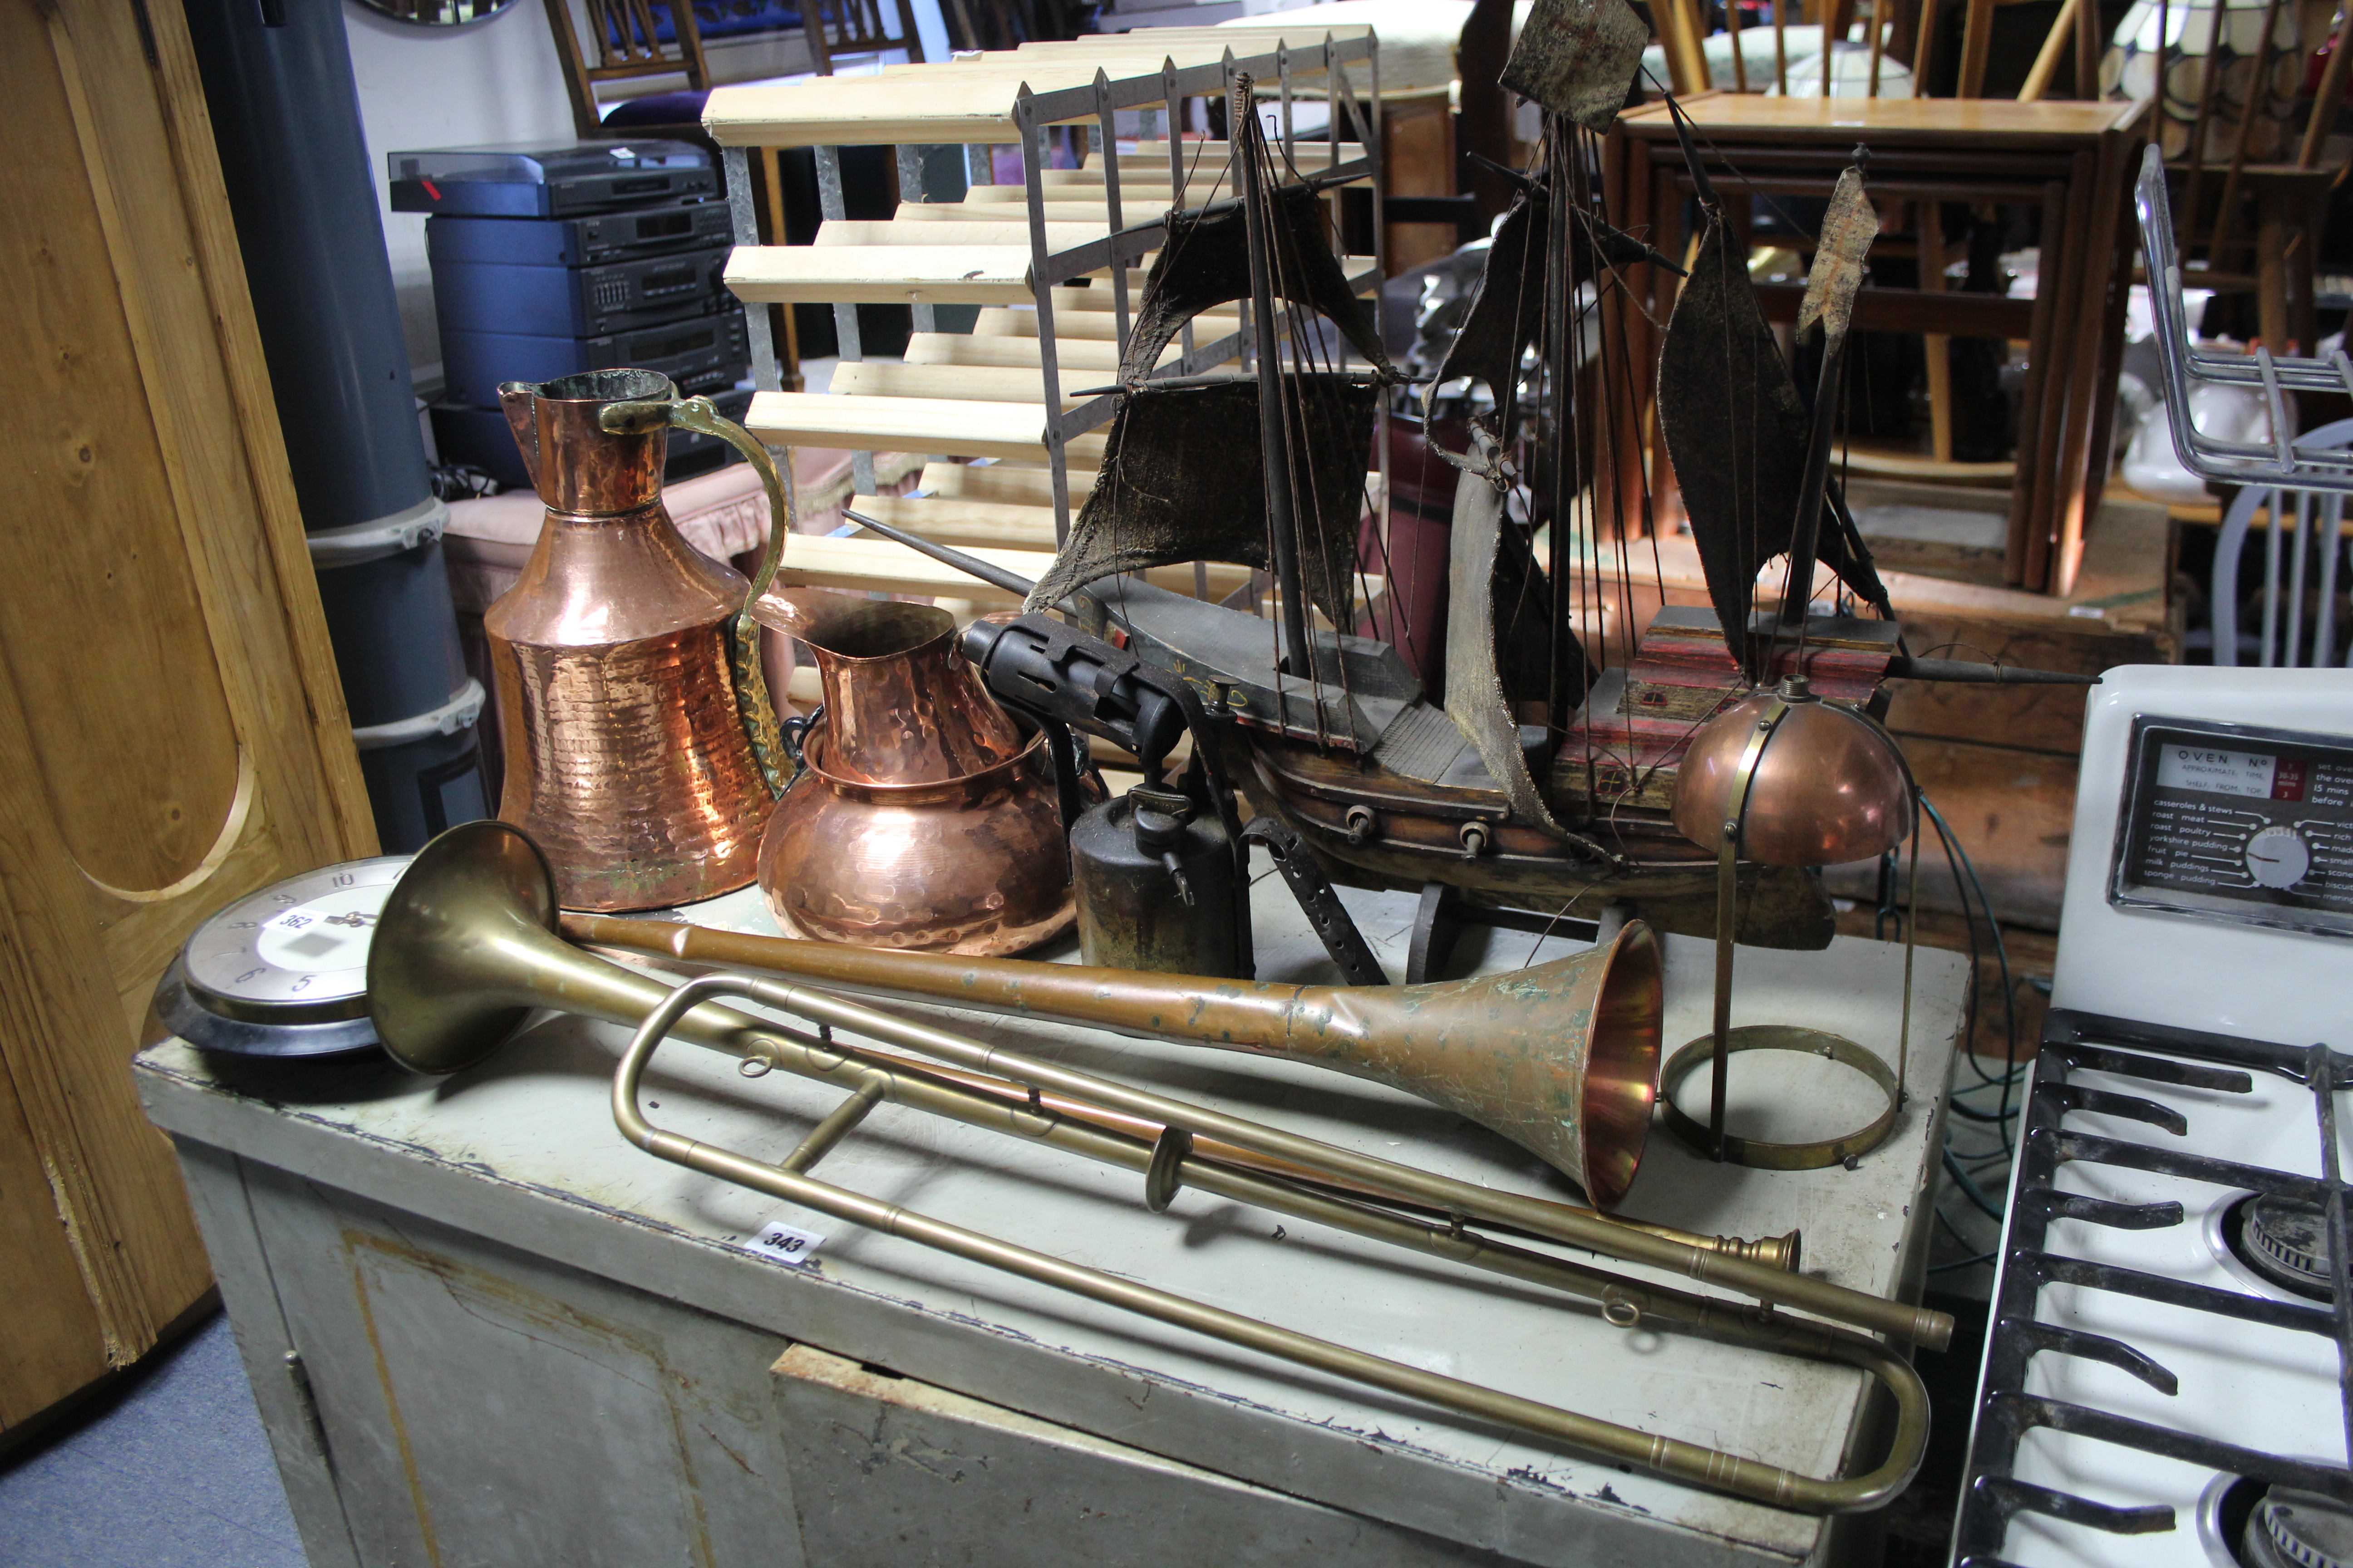
[{"label": "flat wooden top of the nested tables behind the ship", "polygon": [[[2132,101],[2014,99],[1781,99],[1760,92],[1706,92],[1682,99],[1697,134],[1708,139],[1824,143],[1871,141],[1875,146],[1955,146],[1979,150],[2089,148],[2104,132],[2132,129],[2148,113]],[[1647,103],[1619,115],[1628,136],[1675,134],[1666,103]]]}]

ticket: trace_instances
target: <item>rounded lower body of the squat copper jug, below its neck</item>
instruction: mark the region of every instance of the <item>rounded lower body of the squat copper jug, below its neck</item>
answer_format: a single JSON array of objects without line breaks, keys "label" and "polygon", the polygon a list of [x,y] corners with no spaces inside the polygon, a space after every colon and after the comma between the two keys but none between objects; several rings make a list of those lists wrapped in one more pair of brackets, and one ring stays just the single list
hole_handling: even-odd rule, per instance
[{"label": "rounded lower body of the squat copper jug, below its neck", "polygon": [[1002,957],[1071,929],[1075,891],[1045,731],[972,773],[861,783],[828,769],[828,726],[760,839],[760,891],[788,936]]}]

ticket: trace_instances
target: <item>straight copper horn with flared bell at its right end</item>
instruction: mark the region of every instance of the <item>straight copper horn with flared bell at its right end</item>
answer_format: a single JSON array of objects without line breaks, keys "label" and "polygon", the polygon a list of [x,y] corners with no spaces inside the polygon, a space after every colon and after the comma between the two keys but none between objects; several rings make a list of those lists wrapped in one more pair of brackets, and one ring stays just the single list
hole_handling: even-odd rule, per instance
[{"label": "straight copper horn with flared bell at its right end", "polygon": [[576,943],[1315,1063],[1421,1095],[1511,1138],[1612,1208],[1633,1185],[1659,1088],[1659,938],[1433,985],[1273,985],[562,917]]}]

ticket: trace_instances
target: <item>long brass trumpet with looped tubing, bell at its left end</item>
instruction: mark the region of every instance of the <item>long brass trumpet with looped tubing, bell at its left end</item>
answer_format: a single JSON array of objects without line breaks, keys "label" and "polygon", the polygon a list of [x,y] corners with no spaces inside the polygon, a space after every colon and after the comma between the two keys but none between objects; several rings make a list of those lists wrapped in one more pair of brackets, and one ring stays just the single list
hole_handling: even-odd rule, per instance
[{"label": "long brass trumpet with looped tubing, bell at its left end", "polygon": [[[1428,1401],[1433,1406],[1501,1422],[1541,1439],[1626,1465],[1642,1465],[1678,1481],[1753,1497],[1786,1509],[1857,1512],[1889,1502],[1913,1476],[1927,1443],[1927,1389],[1918,1373],[1880,1342],[1831,1324],[1791,1319],[1772,1309],[1652,1286],[1591,1265],[1494,1241],[1471,1229],[1473,1220],[1515,1225],[1544,1239],[1612,1258],[1647,1262],[1725,1284],[1760,1302],[1786,1302],[1880,1333],[1941,1349],[1951,1319],[1845,1291],[1802,1274],[1784,1274],[1666,1241],[1661,1237],[1579,1215],[1558,1204],[1492,1192],[1369,1154],[1355,1154],[1311,1138],[1228,1117],[1167,1095],[1113,1084],[1056,1067],[1016,1051],[986,1046],[929,1025],[892,1018],[873,1009],[779,980],[704,976],[680,987],[598,959],[555,933],[555,882],[546,860],[515,827],[496,820],[466,823],[428,844],[393,889],[369,950],[367,983],[376,1034],[402,1065],[449,1072],[487,1056],[539,1006],[635,1025],[635,1037],[614,1072],[614,1121],[638,1147],[673,1164],[718,1175],[769,1197],[828,1213],[885,1234],[1052,1284],[1092,1300],[1125,1307],[1165,1324],[1242,1345],[1355,1382]],[[819,1025],[915,1051],[932,1063],[906,1063],[866,1046],[767,1023],[713,997],[753,1001],[800,1013]],[[638,1084],[668,1034],[680,1034],[741,1058],[753,1077],[786,1070],[849,1091],[800,1147],[776,1164],[718,1150],[652,1126],[638,1107]],[[969,1086],[962,1074],[1007,1077],[1033,1091],[1028,1103],[1007,1103]],[[1096,1121],[1064,1117],[1045,1095],[1104,1107],[1160,1126],[1144,1140]],[[1617,1422],[1577,1415],[1499,1389],[1402,1366],[1329,1340],[1224,1312],[1153,1286],[1087,1269],[995,1237],[962,1229],[906,1208],[875,1201],[809,1175],[873,1107],[882,1103],[929,1110],[969,1126],[1005,1131],[1073,1154],[1144,1173],[1151,1208],[1165,1208],[1181,1187],[1200,1187],[1226,1199],[1259,1204],[1348,1229],[1360,1237],[1452,1258],[1529,1284],[1600,1300],[1602,1316],[1621,1328],[1635,1324],[1682,1328],[1718,1340],[1854,1366],[1887,1385],[1897,1401],[1889,1455],[1861,1476],[1819,1479],[1722,1450],[1654,1436]],[[1202,1145],[1240,1147],[1261,1159],[1287,1161],[1325,1182],[1348,1182],[1398,1192],[1454,1215],[1445,1227],[1414,1222],[1369,1204],[1346,1201],[1311,1182],[1209,1159]]]}]

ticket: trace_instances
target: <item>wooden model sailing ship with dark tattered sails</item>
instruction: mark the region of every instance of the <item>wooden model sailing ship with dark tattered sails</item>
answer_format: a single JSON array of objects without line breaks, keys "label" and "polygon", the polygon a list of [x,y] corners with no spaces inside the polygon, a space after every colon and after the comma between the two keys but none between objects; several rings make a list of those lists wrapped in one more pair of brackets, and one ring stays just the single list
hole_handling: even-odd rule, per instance
[{"label": "wooden model sailing ship with dark tattered sails", "polygon": [[[1828,475],[1847,310],[1875,235],[1859,172],[1833,200],[1800,320],[1800,331],[1819,320],[1826,334],[1807,414],[1689,139],[1704,230],[1661,353],[1659,423],[1713,614],[1661,611],[1619,668],[1579,639],[1579,607],[1631,599],[1628,552],[1605,562],[1593,550],[1598,512],[1619,512],[1619,538],[1633,534],[1628,512],[1649,512],[1640,463],[1609,461],[1626,423],[1607,407],[1609,367],[1581,378],[1584,317],[1595,310],[1586,301],[1626,266],[1682,273],[1609,226],[1591,179],[1645,42],[1624,0],[1539,0],[1504,73],[1544,106],[1546,129],[1539,162],[1513,174],[1518,197],[1435,374],[1440,386],[1485,383],[1492,397],[1492,411],[1468,421],[1468,449],[1440,449],[1461,470],[1442,701],[1391,642],[1355,635],[1372,630],[1355,597],[1365,454],[1381,400],[1405,376],[1332,254],[1315,188],[1278,181],[1247,78],[1228,118],[1233,197],[1169,212],[1120,386],[1106,388],[1122,404],[1101,475],[1054,567],[1024,588],[1031,611],[1061,607],[1181,677],[1252,806],[1344,879],[1452,886],[1586,919],[1624,905],[1666,931],[1704,933],[1715,922],[1715,856],[1675,832],[1668,806],[1682,745],[1708,717],[1786,675],[1871,705],[1892,675],[2040,672],[1911,658]],[[1254,369],[1153,378],[1186,322],[1238,301],[1259,346]],[[1329,331],[1301,327],[1313,317]],[[1362,367],[1346,367],[1341,343]],[[1633,475],[1631,505],[1602,501],[1614,473]],[[958,552],[880,531],[972,569]],[[1791,557],[1784,607],[1753,614],[1758,574],[1777,555]],[[1195,559],[1266,571],[1273,621],[1139,576]],[[1809,614],[1817,559],[1875,618]],[[1831,933],[1814,872],[1741,870],[1741,940],[1821,947]]]}]

